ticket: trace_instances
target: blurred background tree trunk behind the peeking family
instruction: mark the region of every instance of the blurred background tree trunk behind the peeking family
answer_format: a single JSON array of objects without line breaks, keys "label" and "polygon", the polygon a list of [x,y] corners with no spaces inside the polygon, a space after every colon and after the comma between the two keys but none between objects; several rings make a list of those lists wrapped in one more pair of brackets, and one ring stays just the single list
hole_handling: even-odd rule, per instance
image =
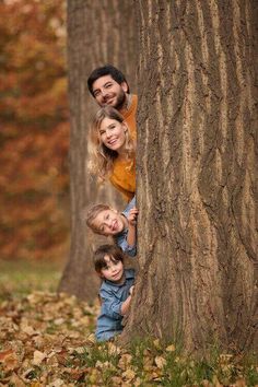
[{"label": "blurred background tree trunk behind the peeking family", "polygon": [[97,278],[92,267],[91,234],[82,227],[80,213],[91,202],[114,203],[116,195],[109,185],[98,189],[85,167],[89,121],[96,109],[86,80],[94,68],[112,63],[127,75],[133,90],[136,31],[129,0],[68,0],[71,248],[59,290],[87,300],[96,296]]}]

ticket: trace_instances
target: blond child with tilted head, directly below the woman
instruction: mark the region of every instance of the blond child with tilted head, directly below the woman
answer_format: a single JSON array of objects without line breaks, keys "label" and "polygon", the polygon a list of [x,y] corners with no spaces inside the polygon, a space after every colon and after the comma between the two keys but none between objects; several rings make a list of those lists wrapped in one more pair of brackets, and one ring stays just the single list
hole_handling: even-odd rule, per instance
[{"label": "blond child with tilted head, directly below the woman", "polygon": [[112,236],[126,254],[137,255],[137,215],[136,197],[124,212],[119,213],[109,206],[90,207],[83,216],[86,225],[96,234]]}]

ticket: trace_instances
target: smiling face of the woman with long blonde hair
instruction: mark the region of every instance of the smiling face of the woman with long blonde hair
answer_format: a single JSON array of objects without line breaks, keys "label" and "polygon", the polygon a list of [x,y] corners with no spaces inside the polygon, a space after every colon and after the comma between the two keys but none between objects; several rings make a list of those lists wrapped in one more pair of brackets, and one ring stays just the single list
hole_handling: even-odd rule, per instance
[{"label": "smiling face of the woman with long blonde hair", "polygon": [[99,126],[99,138],[104,145],[120,153],[126,144],[127,126],[116,119],[105,117]]}]

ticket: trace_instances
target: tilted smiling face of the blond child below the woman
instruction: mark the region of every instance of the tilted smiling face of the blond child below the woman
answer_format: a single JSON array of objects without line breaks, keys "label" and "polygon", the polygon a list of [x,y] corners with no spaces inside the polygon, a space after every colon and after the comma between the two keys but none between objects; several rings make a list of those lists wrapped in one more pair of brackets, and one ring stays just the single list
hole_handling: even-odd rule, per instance
[{"label": "tilted smiling face of the blond child below the woman", "polygon": [[94,225],[102,235],[117,235],[125,228],[125,218],[113,209],[101,211],[95,220]]}]

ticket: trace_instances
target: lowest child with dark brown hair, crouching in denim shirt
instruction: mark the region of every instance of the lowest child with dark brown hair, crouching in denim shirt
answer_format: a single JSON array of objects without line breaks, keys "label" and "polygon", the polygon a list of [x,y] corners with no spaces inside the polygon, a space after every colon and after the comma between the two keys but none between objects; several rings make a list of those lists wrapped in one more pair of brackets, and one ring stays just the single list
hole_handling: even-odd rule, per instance
[{"label": "lowest child with dark brown hair, crouching in denim shirt", "polygon": [[122,251],[114,245],[103,245],[94,254],[94,266],[103,280],[97,318],[97,341],[109,340],[122,331],[122,317],[128,313],[134,283],[134,270],[124,268]]}]

